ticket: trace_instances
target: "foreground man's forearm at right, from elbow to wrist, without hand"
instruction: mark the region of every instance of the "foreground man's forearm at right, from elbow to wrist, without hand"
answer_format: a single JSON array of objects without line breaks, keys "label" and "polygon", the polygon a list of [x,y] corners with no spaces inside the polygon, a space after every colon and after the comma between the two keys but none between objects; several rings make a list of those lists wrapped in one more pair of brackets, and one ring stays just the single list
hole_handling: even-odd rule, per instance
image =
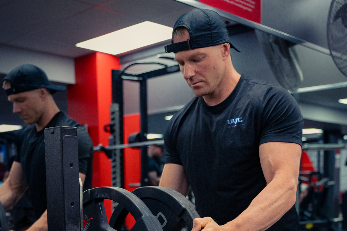
[{"label": "foreground man's forearm at right, from elbow to wrist, without hand", "polygon": [[296,188],[296,180],[275,177],[244,212],[223,226],[237,231],[268,229],[295,204]]}]

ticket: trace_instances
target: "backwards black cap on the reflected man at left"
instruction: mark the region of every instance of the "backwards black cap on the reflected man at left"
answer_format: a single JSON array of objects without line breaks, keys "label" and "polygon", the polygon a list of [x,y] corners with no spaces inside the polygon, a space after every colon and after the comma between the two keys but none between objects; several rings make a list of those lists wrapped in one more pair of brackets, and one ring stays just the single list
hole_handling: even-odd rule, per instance
[{"label": "backwards black cap on the reflected man at left", "polygon": [[51,93],[65,91],[65,86],[50,84],[43,70],[32,64],[23,64],[13,69],[3,80],[8,80],[11,88],[5,90],[7,95],[47,88]]}]

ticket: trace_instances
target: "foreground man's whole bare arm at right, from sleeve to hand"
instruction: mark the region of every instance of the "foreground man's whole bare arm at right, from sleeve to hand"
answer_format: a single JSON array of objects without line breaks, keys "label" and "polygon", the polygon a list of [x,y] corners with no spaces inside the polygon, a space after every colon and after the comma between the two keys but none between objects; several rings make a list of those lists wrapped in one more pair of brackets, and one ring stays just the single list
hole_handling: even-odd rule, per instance
[{"label": "foreground man's whole bare arm at right, from sleeve to hand", "polygon": [[259,146],[266,187],[236,219],[219,226],[211,217],[195,219],[193,231],[268,229],[296,201],[301,146],[295,143],[269,142]]}]

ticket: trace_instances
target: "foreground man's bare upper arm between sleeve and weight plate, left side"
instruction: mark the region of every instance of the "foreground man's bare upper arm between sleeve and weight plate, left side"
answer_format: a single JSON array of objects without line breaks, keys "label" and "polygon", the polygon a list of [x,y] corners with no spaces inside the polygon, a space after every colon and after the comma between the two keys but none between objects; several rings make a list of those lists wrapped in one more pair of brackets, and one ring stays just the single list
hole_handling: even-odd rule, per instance
[{"label": "foreground man's bare upper arm between sleeve and weight plate, left side", "polygon": [[164,165],[159,186],[174,189],[186,196],[189,189],[189,183],[183,166],[174,163],[167,163]]}]

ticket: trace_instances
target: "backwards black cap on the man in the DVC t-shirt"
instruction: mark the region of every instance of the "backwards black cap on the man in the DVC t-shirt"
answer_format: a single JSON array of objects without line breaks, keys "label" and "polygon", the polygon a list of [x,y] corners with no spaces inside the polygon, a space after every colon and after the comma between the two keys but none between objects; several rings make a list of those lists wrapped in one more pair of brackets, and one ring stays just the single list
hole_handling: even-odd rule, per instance
[{"label": "backwards black cap on the man in the DVC t-shirt", "polygon": [[189,39],[184,42],[174,43],[165,47],[165,52],[179,52],[200,47],[208,47],[229,43],[231,48],[240,52],[229,40],[229,33],[222,17],[213,10],[195,9],[181,15],[173,28],[185,27],[189,32]]}]

